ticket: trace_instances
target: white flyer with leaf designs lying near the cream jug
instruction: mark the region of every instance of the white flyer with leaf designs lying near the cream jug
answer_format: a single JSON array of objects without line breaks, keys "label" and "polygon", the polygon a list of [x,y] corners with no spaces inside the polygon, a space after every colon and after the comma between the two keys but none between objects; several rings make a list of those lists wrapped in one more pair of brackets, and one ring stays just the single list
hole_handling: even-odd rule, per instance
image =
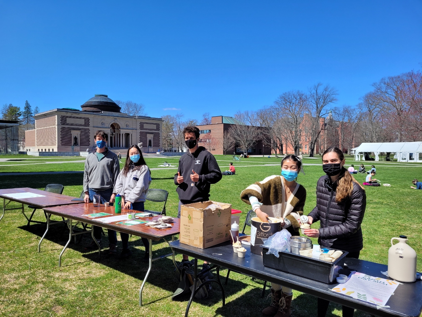
[{"label": "white flyer with leaf designs lying near the cream jug", "polygon": [[356,272],[346,283],[338,284],[332,291],[384,306],[397,287],[396,281]]}]

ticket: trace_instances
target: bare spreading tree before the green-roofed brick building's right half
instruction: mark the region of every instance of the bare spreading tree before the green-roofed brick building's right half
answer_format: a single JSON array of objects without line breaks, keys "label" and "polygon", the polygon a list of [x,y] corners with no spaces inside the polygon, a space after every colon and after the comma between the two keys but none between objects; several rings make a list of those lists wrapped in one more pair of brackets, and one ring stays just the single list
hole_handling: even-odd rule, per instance
[{"label": "bare spreading tree before the green-roofed brick building's right half", "polygon": [[254,118],[255,117],[251,112],[238,112],[235,115],[235,119],[238,120],[239,123],[233,124],[228,130],[235,144],[238,145],[244,153],[248,153],[248,150],[257,144],[260,139],[258,127],[250,125]]}]

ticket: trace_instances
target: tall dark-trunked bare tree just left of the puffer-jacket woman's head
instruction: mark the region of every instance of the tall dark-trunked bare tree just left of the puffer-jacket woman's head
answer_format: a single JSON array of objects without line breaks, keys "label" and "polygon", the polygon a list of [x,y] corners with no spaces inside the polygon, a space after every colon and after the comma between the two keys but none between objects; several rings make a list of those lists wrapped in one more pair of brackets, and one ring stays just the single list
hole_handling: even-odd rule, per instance
[{"label": "tall dark-trunked bare tree just left of the puffer-jacket woman's head", "polygon": [[309,139],[309,156],[314,156],[315,145],[321,134],[324,124],[322,118],[327,114],[327,106],[337,101],[337,91],[322,83],[318,83],[309,89],[308,104],[306,111],[309,112],[307,120],[304,121],[305,134]]}]

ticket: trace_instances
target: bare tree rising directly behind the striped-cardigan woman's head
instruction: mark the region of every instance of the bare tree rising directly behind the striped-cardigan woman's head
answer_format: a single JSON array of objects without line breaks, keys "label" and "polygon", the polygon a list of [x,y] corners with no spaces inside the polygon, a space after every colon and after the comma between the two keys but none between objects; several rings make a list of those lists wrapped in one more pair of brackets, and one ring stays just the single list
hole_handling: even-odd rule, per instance
[{"label": "bare tree rising directly behind the striped-cardigan woman's head", "polygon": [[280,116],[281,128],[287,143],[299,155],[302,140],[303,112],[308,107],[308,97],[301,91],[289,91],[274,101],[274,109]]}]

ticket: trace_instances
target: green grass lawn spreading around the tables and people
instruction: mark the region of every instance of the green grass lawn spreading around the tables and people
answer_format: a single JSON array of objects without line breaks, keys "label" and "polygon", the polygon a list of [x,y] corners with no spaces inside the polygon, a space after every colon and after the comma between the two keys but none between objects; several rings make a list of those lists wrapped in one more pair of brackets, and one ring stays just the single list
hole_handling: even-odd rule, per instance
[{"label": "green grass lawn spreading around the tables and people", "polygon": [[[220,168],[225,170],[231,156],[216,157]],[[358,167],[360,162],[347,158],[346,164]],[[179,158],[146,158],[150,168],[167,161],[178,164]],[[124,159],[123,159],[124,162]],[[304,158],[306,164],[321,164],[320,160]],[[231,203],[233,208],[242,210],[241,227],[249,205],[240,199],[241,191],[251,183],[269,175],[279,175],[280,158],[248,158],[234,162],[236,175],[223,176],[216,185],[211,186],[211,199]],[[388,163],[388,162],[385,162]],[[422,191],[410,189],[413,178],[422,179],[421,164],[391,162],[363,162],[367,169],[376,165],[376,178],[391,187],[366,187],[367,208],[362,224],[364,249],[361,259],[387,264],[390,239],[407,235],[409,244],[422,252]],[[0,162],[0,165],[3,164]],[[271,166],[268,164],[276,164]],[[252,166],[251,166],[252,165]],[[265,166],[267,165],[267,166]],[[123,164],[121,164],[121,167]],[[347,165],[349,166],[349,165]],[[37,164],[0,167],[0,172],[35,172],[83,170],[83,163]],[[167,214],[177,215],[178,197],[173,183],[175,169],[152,170],[151,188],[166,189],[169,198]],[[315,186],[323,174],[319,165],[306,165],[306,175],[300,174],[298,182],[307,190],[305,213],[315,206]],[[361,183],[365,175],[354,175]],[[61,183],[65,186],[63,194],[79,197],[82,190],[82,174],[51,175],[0,175],[0,188],[33,187],[43,189],[48,183]],[[18,204],[11,203],[18,206]],[[146,202],[146,208],[158,209],[161,205]],[[28,208],[26,210],[29,212]],[[41,210],[37,219],[43,219]],[[312,227],[317,228],[319,223]],[[90,243],[90,236],[84,236],[80,244],[71,243],[58,267],[58,256],[68,239],[68,230],[63,224],[52,226],[41,253],[37,252],[38,241],[44,232],[41,224],[26,227],[19,210],[6,212],[0,221],[0,316],[182,316],[187,298],[171,301],[178,281],[173,273],[170,259],[154,262],[153,269],[143,291],[143,307],[138,306],[138,292],[148,265],[141,261],[144,248],[141,239],[130,238],[133,256],[126,261],[98,258],[95,252],[84,252],[83,247]],[[249,232],[249,230],[247,230]],[[118,239],[120,239],[118,235]],[[108,246],[107,238],[102,245]],[[118,249],[121,244],[118,245]],[[167,254],[170,249],[166,243],[154,243],[155,255]],[[181,260],[177,255],[176,260]],[[418,271],[422,271],[422,259],[418,258]],[[227,270],[222,270],[224,279]],[[221,306],[218,290],[210,298],[192,303],[189,316],[261,316],[261,310],[269,303],[260,293],[263,282],[238,273],[230,273],[230,281],[225,287],[226,306]],[[268,294],[268,290],[267,290]],[[292,303],[293,316],[316,316],[316,298],[294,291]],[[331,304],[327,316],[341,316],[341,306]],[[368,316],[356,312],[355,316]]]}]

